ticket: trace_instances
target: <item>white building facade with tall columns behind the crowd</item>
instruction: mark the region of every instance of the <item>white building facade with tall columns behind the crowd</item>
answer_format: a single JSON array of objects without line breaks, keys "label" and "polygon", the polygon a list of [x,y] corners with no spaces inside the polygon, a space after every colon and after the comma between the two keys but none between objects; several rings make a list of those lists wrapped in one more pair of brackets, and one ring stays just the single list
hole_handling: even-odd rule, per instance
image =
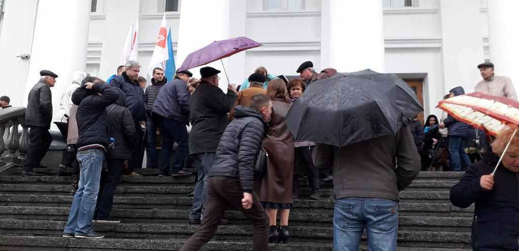
[{"label": "white building facade with tall columns behind the crowd", "polygon": [[[214,40],[245,36],[262,47],[224,60],[231,83],[258,66],[297,75],[304,61],[317,70],[371,68],[397,73],[417,90],[425,115],[451,88],[473,92],[477,64],[519,89],[519,1],[516,0],[0,0],[0,95],[26,104],[40,69],[60,77],[54,110],[72,72],[107,79],[120,64],[131,22],[139,23],[139,62],[147,76],[166,13],[175,62]],[[24,58],[28,54],[29,58]],[[26,57],[26,56],[25,56]],[[222,69],[218,63],[212,64]],[[194,77],[198,70],[194,69]],[[223,76],[221,76],[223,77]],[[149,79],[149,77],[148,77]],[[221,83],[225,83],[222,78]]]}]

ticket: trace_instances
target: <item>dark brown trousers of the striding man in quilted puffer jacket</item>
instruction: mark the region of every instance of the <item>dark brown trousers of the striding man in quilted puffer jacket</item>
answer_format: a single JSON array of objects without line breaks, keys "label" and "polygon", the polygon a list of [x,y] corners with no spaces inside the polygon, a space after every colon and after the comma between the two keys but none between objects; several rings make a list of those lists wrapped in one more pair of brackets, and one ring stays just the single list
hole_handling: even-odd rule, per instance
[{"label": "dark brown trousers of the striding man in quilted puffer jacket", "polygon": [[203,215],[202,225],[180,248],[180,251],[200,250],[204,244],[211,240],[225,210],[229,206],[233,210],[240,210],[254,225],[252,250],[267,251],[268,216],[256,193],[253,192],[252,197],[252,207],[243,209],[241,206],[243,190],[239,179],[224,176],[208,178],[206,213]]}]

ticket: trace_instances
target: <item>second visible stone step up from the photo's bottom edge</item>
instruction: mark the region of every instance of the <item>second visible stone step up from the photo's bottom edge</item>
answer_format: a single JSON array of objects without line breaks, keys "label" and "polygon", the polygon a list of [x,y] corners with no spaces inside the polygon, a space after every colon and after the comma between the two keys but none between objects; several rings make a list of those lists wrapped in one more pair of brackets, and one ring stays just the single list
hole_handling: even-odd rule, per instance
[{"label": "second visible stone step up from the photo's bottom edge", "polygon": [[[0,219],[2,234],[60,235],[66,221]],[[110,238],[187,238],[199,226],[180,223],[94,223],[95,231],[105,233]],[[248,225],[219,226],[215,240],[240,241],[252,235],[253,227]],[[332,243],[333,228],[290,226],[291,240],[294,242]],[[399,230],[398,240],[403,242],[453,243],[463,246],[470,244],[469,231],[424,231]],[[454,247],[454,246],[453,246]]]}]

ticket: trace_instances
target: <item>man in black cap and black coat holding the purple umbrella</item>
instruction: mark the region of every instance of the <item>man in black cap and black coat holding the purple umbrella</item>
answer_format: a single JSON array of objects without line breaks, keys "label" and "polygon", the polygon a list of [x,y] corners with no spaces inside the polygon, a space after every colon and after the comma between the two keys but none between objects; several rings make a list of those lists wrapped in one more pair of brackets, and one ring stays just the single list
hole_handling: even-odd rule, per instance
[{"label": "man in black cap and black coat holding the purple umbrella", "polygon": [[200,224],[202,204],[206,197],[204,186],[207,174],[211,169],[218,142],[227,126],[227,113],[236,101],[236,88],[233,85],[227,86],[227,94],[218,87],[218,73],[220,71],[212,67],[200,69],[201,82],[189,104],[193,124],[189,132],[189,154],[201,163],[197,165],[198,182],[195,186],[189,224]]}]

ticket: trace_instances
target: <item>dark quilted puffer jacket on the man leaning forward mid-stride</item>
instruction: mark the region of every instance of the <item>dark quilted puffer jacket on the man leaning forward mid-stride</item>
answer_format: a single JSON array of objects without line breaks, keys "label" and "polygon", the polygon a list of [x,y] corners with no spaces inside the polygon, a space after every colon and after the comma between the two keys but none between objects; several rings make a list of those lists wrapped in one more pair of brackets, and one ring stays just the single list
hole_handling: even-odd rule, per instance
[{"label": "dark quilted puffer jacket on the man leaning forward mid-stride", "polygon": [[263,116],[256,110],[237,106],[235,119],[227,125],[218,143],[209,177],[240,179],[243,191],[254,188],[254,166],[265,136]]}]

